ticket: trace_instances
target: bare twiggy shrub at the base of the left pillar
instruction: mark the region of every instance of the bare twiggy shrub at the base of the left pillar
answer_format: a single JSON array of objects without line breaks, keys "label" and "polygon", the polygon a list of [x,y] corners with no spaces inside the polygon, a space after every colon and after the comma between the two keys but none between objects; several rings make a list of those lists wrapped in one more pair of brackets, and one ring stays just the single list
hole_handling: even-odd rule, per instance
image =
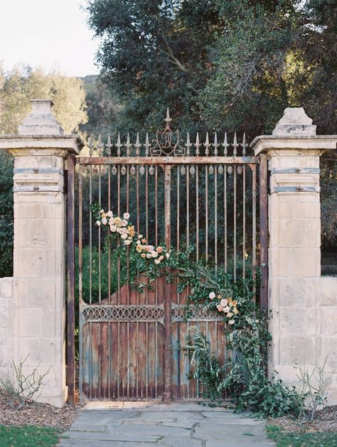
[{"label": "bare twiggy shrub at the base of the left pillar", "polygon": [[8,404],[12,409],[21,409],[26,405],[28,400],[33,399],[35,394],[40,391],[44,384],[44,379],[50,371],[49,367],[46,372],[40,374],[38,372],[40,363],[38,363],[38,365],[33,368],[33,371],[26,373],[25,362],[27,358],[28,355],[24,359],[20,357],[17,365],[15,362],[12,362],[12,367],[14,370],[14,384],[11,384],[11,382],[4,382],[0,379],[1,386],[9,395]]}]

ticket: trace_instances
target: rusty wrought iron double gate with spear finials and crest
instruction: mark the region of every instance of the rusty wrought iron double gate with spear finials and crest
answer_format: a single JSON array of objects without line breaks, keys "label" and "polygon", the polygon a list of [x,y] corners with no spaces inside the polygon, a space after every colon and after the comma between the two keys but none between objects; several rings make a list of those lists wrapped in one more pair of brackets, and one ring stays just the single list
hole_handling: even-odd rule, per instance
[{"label": "rusty wrought iron double gate with spear finials and crest", "polygon": [[[166,128],[140,144],[110,138],[88,144],[90,156],[68,166],[68,387],[75,375],[74,297],[79,299],[80,397],[82,399],[198,399],[200,384],[189,377],[186,336],[191,325],[205,333],[220,362],[228,352],[224,323],[193,307],[186,320],[184,298],[176,284],[156,280],[153,291],[132,290],[129,264],[103,249],[101,227],[90,205],[121,215],[129,212],[147,243],[177,250],[193,246],[192,256],[213,262],[234,280],[267,264],[267,161],[247,156],[245,136],[222,143],[208,134],[184,142]],[[103,154],[104,152],[104,154]],[[240,154],[239,154],[240,153]],[[94,155],[94,156],[93,156]],[[260,184],[260,188],[257,185]],[[260,219],[258,218],[260,216]],[[75,223],[78,240],[75,241]],[[257,242],[257,239],[258,242]],[[75,241],[75,242],[74,242]],[[75,248],[76,244],[76,248]],[[76,253],[75,253],[76,252]],[[77,262],[75,262],[75,255]],[[76,264],[76,265],[75,265]],[[75,275],[78,275],[78,289]],[[139,281],[146,281],[139,278]],[[257,293],[267,307],[267,267]]]}]

